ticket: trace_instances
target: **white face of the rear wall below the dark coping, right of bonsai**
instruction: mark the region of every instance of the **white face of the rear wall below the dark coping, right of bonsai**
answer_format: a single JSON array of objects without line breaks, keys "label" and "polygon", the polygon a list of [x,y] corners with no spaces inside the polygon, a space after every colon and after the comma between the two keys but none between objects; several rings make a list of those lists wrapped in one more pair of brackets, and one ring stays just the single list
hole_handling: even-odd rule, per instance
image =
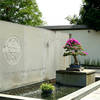
[{"label": "white face of the rear wall below the dark coping, right of bonsai", "polygon": [[79,56],[81,63],[85,59],[100,61],[100,31],[95,30],[61,30],[62,34],[72,34],[72,38],[77,39],[82,44],[88,56]]}]

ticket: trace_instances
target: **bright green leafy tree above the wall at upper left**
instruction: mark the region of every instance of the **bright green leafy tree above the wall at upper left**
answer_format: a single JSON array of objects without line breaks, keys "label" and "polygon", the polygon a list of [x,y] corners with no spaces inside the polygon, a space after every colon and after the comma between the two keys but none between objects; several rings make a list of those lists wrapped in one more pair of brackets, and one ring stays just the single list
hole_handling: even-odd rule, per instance
[{"label": "bright green leafy tree above the wall at upper left", "polygon": [[42,14],[35,0],[0,0],[0,20],[24,25],[41,25]]}]

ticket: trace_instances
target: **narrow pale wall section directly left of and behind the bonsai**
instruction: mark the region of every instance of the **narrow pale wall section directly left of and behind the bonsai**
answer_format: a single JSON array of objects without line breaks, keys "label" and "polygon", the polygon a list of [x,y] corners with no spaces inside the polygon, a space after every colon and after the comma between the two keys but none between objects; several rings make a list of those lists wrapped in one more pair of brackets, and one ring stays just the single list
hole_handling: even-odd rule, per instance
[{"label": "narrow pale wall section directly left of and behind the bonsai", "polygon": [[[65,45],[66,41],[69,39],[69,34],[57,32],[56,31],[56,66],[57,70],[59,69],[66,69],[69,67],[71,63],[70,57],[64,57],[64,49],[63,46]],[[62,49],[61,49],[62,48]]]}]

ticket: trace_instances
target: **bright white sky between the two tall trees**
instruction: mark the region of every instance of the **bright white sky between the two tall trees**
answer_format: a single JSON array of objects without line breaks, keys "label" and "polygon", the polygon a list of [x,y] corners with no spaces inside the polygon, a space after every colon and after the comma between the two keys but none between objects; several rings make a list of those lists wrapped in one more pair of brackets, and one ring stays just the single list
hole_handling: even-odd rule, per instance
[{"label": "bright white sky between the two tall trees", "polygon": [[69,25],[67,16],[78,15],[82,0],[36,0],[47,25]]}]

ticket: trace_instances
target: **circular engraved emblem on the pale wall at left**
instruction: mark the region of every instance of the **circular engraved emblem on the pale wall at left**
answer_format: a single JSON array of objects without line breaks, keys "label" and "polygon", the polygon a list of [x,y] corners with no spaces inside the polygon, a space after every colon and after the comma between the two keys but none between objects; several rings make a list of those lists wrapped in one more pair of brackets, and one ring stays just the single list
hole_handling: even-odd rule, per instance
[{"label": "circular engraved emblem on the pale wall at left", "polygon": [[3,54],[10,65],[16,65],[21,58],[21,46],[17,37],[8,38],[3,46]]}]

